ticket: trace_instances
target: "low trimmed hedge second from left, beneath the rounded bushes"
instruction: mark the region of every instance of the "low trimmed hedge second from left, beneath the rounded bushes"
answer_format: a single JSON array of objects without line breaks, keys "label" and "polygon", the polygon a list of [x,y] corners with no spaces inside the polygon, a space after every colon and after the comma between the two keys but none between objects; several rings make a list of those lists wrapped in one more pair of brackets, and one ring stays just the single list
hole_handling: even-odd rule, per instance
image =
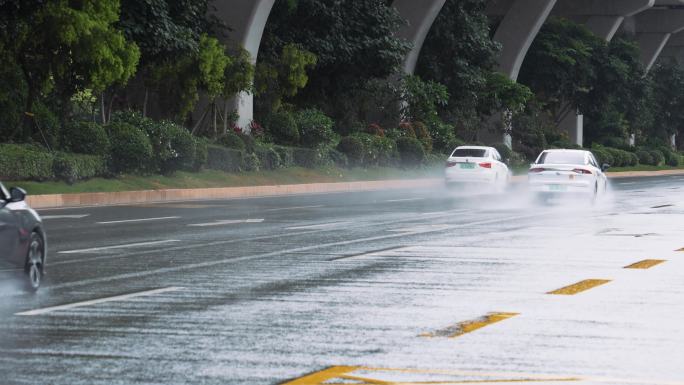
[{"label": "low trimmed hedge second from left, beneath the rounded bushes", "polygon": [[52,163],[55,178],[72,184],[81,179],[104,176],[107,161],[100,155],[82,155],[58,152]]}]

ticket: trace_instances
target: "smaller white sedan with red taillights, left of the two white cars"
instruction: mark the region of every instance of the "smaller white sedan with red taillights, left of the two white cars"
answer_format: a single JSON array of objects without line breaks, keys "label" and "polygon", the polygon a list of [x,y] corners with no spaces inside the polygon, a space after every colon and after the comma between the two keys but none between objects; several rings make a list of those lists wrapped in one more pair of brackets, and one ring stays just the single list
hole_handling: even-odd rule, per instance
[{"label": "smaller white sedan with red taillights, left of the two white cars", "polygon": [[460,146],[447,159],[444,179],[447,186],[484,184],[500,191],[510,171],[494,147]]}]

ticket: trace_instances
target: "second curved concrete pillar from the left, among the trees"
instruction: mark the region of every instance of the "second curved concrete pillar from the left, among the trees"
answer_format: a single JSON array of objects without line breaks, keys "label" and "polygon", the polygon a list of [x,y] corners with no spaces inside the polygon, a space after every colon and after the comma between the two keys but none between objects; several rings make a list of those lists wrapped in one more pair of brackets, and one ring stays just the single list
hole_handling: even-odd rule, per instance
[{"label": "second curved concrete pillar from the left, among the trees", "polygon": [[401,17],[408,21],[407,25],[402,27],[397,35],[413,44],[413,48],[404,59],[404,73],[413,74],[416,69],[425,37],[430,32],[430,27],[432,27],[432,23],[439,15],[445,2],[446,0],[394,0],[392,3]]}]

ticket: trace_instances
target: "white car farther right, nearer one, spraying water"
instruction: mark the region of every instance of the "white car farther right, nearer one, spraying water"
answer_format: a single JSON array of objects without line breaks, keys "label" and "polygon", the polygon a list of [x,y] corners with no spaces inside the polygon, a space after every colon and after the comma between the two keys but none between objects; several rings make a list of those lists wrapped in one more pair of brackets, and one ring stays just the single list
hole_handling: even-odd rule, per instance
[{"label": "white car farther right, nearer one, spraying water", "polygon": [[528,171],[528,185],[542,199],[551,196],[584,195],[595,199],[608,187],[604,171],[594,154],[585,150],[545,150]]}]

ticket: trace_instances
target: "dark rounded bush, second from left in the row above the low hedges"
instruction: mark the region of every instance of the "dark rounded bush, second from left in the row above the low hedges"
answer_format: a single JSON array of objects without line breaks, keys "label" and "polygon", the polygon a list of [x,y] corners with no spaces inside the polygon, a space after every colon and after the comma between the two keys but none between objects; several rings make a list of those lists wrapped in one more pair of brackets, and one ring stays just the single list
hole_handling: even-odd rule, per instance
[{"label": "dark rounded bush, second from left in the row above the low hedges", "polygon": [[115,122],[109,125],[112,171],[143,172],[152,164],[152,144],[145,133],[128,123]]}]

